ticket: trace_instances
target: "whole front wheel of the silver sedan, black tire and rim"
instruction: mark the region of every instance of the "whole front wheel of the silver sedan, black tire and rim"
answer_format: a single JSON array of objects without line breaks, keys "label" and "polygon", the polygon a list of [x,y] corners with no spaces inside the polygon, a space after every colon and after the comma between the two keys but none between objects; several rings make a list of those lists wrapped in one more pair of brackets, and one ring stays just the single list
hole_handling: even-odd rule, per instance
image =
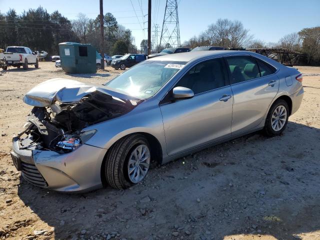
[{"label": "whole front wheel of the silver sedan, black tire and rim", "polygon": [[[135,166],[136,162],[135,163],[131,163],[131,162],[134,161],[133,158],[135,158],[134,152],[137,152],[136,149],[140,149],[139,148],[140,146],[141,148],[144,147],[145,149],[144,151],[144,149],[142,148],[143,150],[141,151],[145,153],[142,154],[140,158],[143,158],[143,159],[145,158],[145,160],[143,161],[142,159],[141,160],[142,163],[139,163],[138,166],[136,167]],[[135,156],[138,157],[138,154],[136,154]],[[137,174],[137,171],[134,172],[134,170],[133,170],[133,173],[129,174],[129,171],[131,170],[132,172],[132,169],[134,167],[136,167],[136,169],[142,169],[141,167],[144,167],[145,165],[147,165],[147,168],[144,168],[145,170],[144,174],[142,173]],[[104,176],[107,183],[111,187],[116,189],[125,189],[144,179],[145,175],[147,174],[147,170],[149,169],[149,166],[150,166],[150,146],[147,139],[142,134],[131,134],[119,139],[107,151],[107,154],[105,156],[105,162],[104,162]],[[136,181],[131,180],[132,176],[134,175],[137,176]]]}]

